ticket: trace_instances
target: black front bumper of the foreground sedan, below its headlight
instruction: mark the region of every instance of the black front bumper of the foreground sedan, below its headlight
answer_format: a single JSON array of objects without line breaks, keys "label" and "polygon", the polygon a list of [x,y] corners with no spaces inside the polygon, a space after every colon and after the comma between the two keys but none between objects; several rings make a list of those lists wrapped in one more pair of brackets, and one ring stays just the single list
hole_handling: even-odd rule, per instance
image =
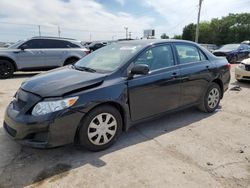
[{"label": "black front bumper of the foreground sedan, below its headlight", "polygon": [[82,112],[67,110],[36,119],[32,115],[17,115],[10,104],[3,127],[10,138],[22,145],[51,148],[74,142],[83,115]]}]

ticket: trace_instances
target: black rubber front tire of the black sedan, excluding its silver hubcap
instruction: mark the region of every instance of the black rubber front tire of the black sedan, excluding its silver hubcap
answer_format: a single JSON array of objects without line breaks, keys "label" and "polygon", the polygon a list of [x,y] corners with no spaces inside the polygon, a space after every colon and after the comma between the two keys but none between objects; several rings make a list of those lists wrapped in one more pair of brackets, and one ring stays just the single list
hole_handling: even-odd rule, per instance
[{"label": "black rubber front tire of the black sedan, excluding its silver hubcap", "polygon": [[[113,137],[111,136],[111,134],[109,135],[109,133],[105,132],[106,138],[109,137],[108,139],[110,139],[110,140],[107,143],[103,143],[102,145],[97,145],[97,144],[94,144],[93,142],[98,142],[97,140],[98,140],[99,135],[101,135],[103,133],[96,133],[96,132],[98,132],[97,129],[91,128],[90,125],[94,121],[98,120],[97,119],[98,115],[99,116],[102,115],[101,116],[102,119],[105,118],[105,115],[103,115],[105,113],[111,114],[113,116],[112,118],[115,118],[115,121],[117,123],[116,129],[115,129],[116,131],[115,131],[115,134]],[[106,116],[106,118],[107,118],[107,116]],[[105,119],[105,121],[106,121],[106,119]],[[96,124],[95,124],[95,126],[96,126]],[[110,127],[110,128],[112,128],[112,127]],[[110,128],[108,128],[108,129],[110,130]],[[92,132],[90,132],[90,131],[92,131]],[[114,130],[112,130],[112,131],[114,131]],[[93,132],[96,133],[96,136],[93,136],[91,139],[91,138],[89,138],[88,135],[90,135]],[[78,144],[80,146],[90,150],[90,151],[101,151],[101,150],[104,150],[104,149],[110,147],[117,140],[117,138],[119,137],[121,132],[122,132],[122,117],[121,117],[120,112],[116,108],[109,106],[109,105],[98,106],[98,107],[94,108],[93,110],[91,110],[81,121],[80,130],[78,133]],[[104,142],[104,135],[102,135],[99,140],[100,140],[100,142],[101,141]]]}]

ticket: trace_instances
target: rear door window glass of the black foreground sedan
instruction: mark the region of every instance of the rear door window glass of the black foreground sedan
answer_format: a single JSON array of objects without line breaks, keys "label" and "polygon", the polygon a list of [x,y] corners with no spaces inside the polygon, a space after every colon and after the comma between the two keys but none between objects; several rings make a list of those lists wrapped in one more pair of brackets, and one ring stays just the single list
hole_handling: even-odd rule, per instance
[{"label": "rear door window glass of the black foreground sedan", "polygon": [[177,50],[180,64],[207,60],[206,56],[195,46],[176,44],[175,47]]}]

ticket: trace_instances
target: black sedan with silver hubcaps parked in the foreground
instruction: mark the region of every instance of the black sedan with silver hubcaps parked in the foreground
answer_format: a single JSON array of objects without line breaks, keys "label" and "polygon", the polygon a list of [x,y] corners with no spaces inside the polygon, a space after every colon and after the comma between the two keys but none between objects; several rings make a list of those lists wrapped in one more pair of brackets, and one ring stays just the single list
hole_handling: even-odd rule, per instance
[{"label": "black sedan with silver hubcaps parked in the foreground", "polygon": [[193,42],[111,44],[22,83],[3,126],[32,147],[74,142],[99,151],[133,124],[166,112],[190,106],[214,112],[228,89],[229,69],[225,58]]}]

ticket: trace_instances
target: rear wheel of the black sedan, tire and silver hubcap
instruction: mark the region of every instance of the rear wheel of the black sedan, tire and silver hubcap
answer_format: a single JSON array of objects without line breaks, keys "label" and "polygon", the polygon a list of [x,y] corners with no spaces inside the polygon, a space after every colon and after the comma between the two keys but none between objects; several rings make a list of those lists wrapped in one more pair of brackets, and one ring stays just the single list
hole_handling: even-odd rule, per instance
[{"label": "rear wheel of the black sedan, tire and silver hubcap", "polygon": [[205,95],[202,97],[199,109],[206,113],[214,112],[220,104],[222,96],[221,92],[220,86],[217,83],[212,82]]}]

